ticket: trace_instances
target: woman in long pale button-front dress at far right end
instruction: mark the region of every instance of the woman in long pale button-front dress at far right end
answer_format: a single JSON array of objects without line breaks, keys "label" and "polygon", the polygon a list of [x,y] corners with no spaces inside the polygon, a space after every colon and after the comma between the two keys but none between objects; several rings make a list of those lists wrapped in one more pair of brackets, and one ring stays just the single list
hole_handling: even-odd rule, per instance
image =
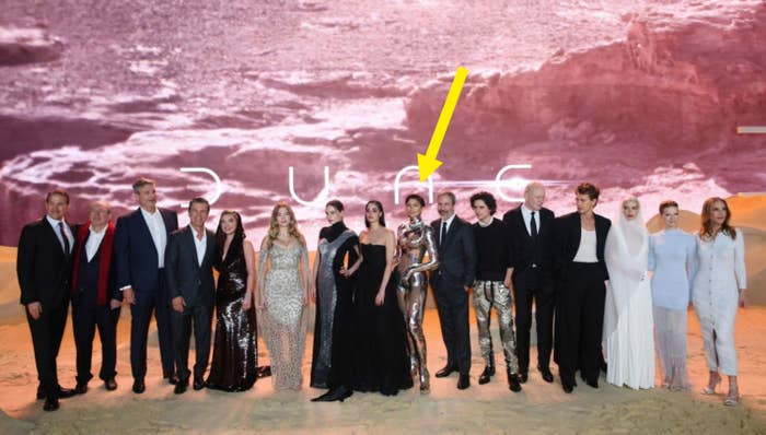
[{"label": "woman in long pale button-front dress at far right end", "polygon": [[740,402],[734,350],[734,317],[744,307],[747,287],[745,244],[741,230],[729,224],[727,201],[709,198],[703,205],[701,227],[697,234],[697,262],[692,302],[699,318],[705,356],[710,371],[706,395],[716,392],[721,375],[729,376],[729,395],[723,404]]}]

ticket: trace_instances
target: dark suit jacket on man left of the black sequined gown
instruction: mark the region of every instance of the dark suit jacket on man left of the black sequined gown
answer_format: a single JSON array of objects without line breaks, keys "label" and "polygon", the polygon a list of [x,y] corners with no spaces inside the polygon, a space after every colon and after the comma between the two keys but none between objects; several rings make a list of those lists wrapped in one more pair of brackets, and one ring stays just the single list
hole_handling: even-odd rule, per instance
[{"label": "dark suit jacket on man left of the black sequined gown", "polygon": [[201,266],[197,259],[192,226],[185,226],[171,234],[165,249],[165,278],[170,298],[183,296],[187,307],[196,304],[213,305],[216,284],[212,267],[218,249],[216,235],[205,230],[207,246]]}]

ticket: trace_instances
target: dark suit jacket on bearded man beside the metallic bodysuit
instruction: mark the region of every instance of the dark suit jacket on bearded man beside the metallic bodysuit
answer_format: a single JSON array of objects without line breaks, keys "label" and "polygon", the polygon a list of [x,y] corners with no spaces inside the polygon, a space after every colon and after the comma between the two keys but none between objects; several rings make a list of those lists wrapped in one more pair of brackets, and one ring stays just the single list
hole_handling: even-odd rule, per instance
[{"label": "dark suit jacket on bearded man beside the metallic bodysuit", "polygon": [[476,279],[476,242],[474,228],[455,215],[441,240],[441,219],[431,222],[439,252],[439,273],[446,280],[473,286]]}]

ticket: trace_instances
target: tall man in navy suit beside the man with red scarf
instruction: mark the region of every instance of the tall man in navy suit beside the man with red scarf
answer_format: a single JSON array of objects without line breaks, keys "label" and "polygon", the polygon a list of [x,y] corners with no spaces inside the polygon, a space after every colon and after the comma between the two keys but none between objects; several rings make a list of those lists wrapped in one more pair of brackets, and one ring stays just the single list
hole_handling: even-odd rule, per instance
[{"label": "tall man in navy suit beside the man with red scarf", "polygon": [[170,296],[165,287],[165,246],[170,233],[178,228],[177,214],[156,207],[154,181],[141,178],[134,183],[138,210],[120,216],[115,230],[117,287],[130,304],[130,369],[134,392],[146,389],[147,337],[152,314],[160,338],[162,376],[171,384],[173,343],[171,334]]}]

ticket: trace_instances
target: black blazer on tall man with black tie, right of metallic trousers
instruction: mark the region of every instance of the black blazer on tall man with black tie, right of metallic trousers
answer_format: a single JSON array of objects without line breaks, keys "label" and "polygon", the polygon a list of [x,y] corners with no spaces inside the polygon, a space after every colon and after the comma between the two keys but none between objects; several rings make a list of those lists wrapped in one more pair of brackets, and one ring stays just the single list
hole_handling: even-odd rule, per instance
[{"label": "black blazer on tall man with black tie, right of metallic trousers", "polygon": [[537,243],[532,245],[532,236],[526,231],[524,216],[519,205],[502,215],[510,246],[509,268],[513,275],[523,273],[535,264],[541,271],[550,273],[554,267],[554,212],[541,209],[537,213]]}]

